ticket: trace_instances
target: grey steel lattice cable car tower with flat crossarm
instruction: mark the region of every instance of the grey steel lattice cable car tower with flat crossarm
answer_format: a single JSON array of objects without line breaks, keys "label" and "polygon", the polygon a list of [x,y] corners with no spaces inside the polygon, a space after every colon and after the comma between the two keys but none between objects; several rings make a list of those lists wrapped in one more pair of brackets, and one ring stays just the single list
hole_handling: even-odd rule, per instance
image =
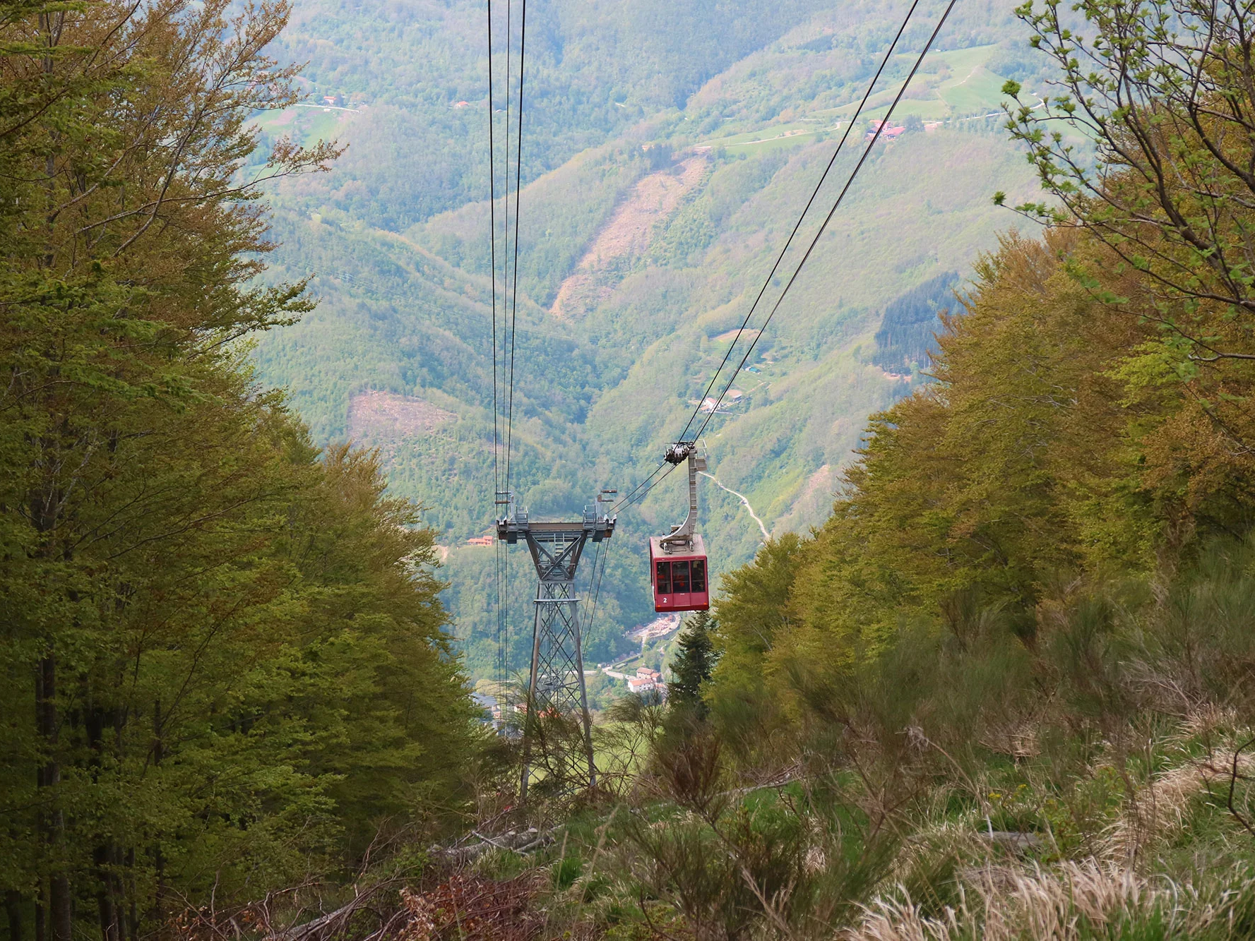
[{"label": "grey steel lattice cable car tower with flat crossarm", "polygon": [[[527,713],[523,718],[523,773],[520,799],[527,799],[531,783],[531,748],[537,721],[546,715],[575,718],[582,748],[571,750],[566,743],[547,755],[556,762],[566,779],[581,779],[594,787],[597,769],[592,758],[592,726],[589,718],[589,694],[584,684],[584,649],[580,637],[580,598],[575,593],[575,575],[580,556],[589,540],[609,540],[616,517],[609,516],[604,504],[614,491],[602,491],[582,519],[551,522],[530,519],[526,509],[516,509],[510,496],[507,514],[497,521],[497,538],[513,546],[527,543],[536,566],[536,598],[532,620],[532,665],[527,686]],[[499,499],[499,498],[498,498]]]}]

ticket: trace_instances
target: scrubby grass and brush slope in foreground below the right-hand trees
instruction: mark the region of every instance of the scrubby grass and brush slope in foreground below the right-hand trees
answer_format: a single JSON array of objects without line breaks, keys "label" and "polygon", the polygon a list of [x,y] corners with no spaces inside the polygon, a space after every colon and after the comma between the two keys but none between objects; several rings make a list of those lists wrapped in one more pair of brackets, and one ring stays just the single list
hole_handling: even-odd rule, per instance
[{"label": "scrubby grass and brush slope in foreground below the right-hand trees", "polygon": [[[904,624],[786,718],[625,704],[602,733],[646,743],[638,772],[472,866],[528,881],[530,933],[501,937],[1252,935],[1252,565],[1073,580],[1029,644],[996,606]],[[432,937],[498,937],[459,931]]]}]

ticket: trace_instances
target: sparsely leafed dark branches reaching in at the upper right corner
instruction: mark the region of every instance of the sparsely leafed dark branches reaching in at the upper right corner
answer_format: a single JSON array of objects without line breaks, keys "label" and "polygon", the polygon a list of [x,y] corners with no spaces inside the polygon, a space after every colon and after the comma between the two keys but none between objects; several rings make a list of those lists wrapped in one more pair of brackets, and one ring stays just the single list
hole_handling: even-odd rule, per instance
[{"label": "sparsely leafed dark branches reaching in at the upper right corner", "polygon": [[[1018,208],[1081,226],[1131,295],[1088,285],[1161,327],[1142,364],[1192,378],[1252,360],[1255,325],[1255,23],[1239,0],[1058,0],[1019,8],[1030,44],[1058,66],[1035,100],[1009,82],[1008,128],[1028,149],[1045,202]],[[1074,26],[1074,28],[1069,28]],[[1003,193],[995,196],[1001,202]]]}]

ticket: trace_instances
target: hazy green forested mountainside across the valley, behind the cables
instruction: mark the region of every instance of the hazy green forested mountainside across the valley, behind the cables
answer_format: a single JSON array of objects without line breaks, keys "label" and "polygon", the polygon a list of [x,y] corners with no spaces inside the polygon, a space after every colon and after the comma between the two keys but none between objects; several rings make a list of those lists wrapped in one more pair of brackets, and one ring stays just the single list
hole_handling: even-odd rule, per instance
[{"label": "hazy green forested mountainside across the valley, behind the cables", "polygon": [[[907,53],[940,14],[920,9]],[[656,463],[904,11],[528,9],[512,483],[533,512],[579,511],[597,488],[626,491]],[[707,429],[712,473],[773,532],[823,518],[865,417],[921,381],[922,356],[887,369],[877,353],[886,306],[945,272],[964,277],[1013,222],[993,191],[1032,192],[991,117],[1005,78],[1032,83],[1038,68],[1013,24],[996,4],[955,13],[896,113],[905,133],[877,146],[756,348],[753,371],[737,380],[735,401]],[[473,670],[491,654],[492,620],[491,552],[464,546],[492,519],[484,25],[469,4],[363,18],[310,0],[284,50],[309,59],[307,104],[339,95],[344,110],[259,119],[266,134],[349,144],[331,173],[276,192],[276,271],[315,275],[323,302],[257,346],[261,373],[291,389],[318,440],[382,447],[393,491],[427,507],[451,548],[447,598]],[[911,58],[894,59],[867,114],[884,114]],[[833,181],[853,166],[865,129],[861,120],[851,133]],[[835,194],[830,181],[817,203]],[[644,537],[681,514],[673,483],[621,518],[594,661],[651,616]],[[713,481],[702,487],[712,565],[725,571],[750,557],[761,532],[735,497]],[[513,572],[513,611],[530,617],[522,557]],[[525,630],[515,631],[516,662]]]}]

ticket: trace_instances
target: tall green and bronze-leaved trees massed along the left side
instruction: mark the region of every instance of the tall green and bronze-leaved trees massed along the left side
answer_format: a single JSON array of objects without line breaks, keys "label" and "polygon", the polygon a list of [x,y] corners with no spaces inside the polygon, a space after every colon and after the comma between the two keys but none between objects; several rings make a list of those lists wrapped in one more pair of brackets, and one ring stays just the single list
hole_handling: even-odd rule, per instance
[{"label": "tall green and bronze-leaved trees massed along the left side", "polygon": [[477,733],[433,533],[237,343],[312,307],[240,176],[286,6],[4,14],[0,881],[16,936],[136,937],[447,826]]}]

